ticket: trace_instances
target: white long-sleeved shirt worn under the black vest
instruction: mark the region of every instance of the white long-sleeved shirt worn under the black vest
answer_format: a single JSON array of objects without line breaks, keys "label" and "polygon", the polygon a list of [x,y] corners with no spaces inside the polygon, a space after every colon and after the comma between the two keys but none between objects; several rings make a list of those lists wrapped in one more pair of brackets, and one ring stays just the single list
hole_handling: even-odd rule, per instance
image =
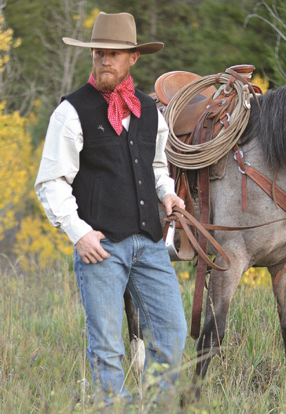
[{"label": "white long-sleeved shirt worn under the black vest", "polygon": [[[122,124],[128,131],[130,115],[123,119]],[[174,180],[169,177],[165,155],[167,135],[167,124],[158,111],[153,170],[156,193],[161,201],[165,195],[175,194]],[[79,171],[79,152],[82,148],[83,132],[79,115],[71,103],[65,100],[50,118],[35,191],[52,225],[63,230],[73,244],[93,230],[79,218],[76,199],[72,195],[71,184]]]}]

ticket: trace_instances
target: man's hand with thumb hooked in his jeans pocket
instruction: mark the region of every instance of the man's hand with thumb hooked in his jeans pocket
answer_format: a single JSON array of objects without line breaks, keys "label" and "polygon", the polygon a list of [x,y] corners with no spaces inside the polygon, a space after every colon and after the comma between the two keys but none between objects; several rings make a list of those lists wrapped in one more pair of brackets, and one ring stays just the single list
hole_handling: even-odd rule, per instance
[{"label": "man's hand with thumb hooked in his jeans pocket", "polygon": [[76,250],[86,264],[102,262],[103,259],[108,259],[110,254],[104,250],[100,241],[105,236],[101,231],[92,230],[76,243]]}]

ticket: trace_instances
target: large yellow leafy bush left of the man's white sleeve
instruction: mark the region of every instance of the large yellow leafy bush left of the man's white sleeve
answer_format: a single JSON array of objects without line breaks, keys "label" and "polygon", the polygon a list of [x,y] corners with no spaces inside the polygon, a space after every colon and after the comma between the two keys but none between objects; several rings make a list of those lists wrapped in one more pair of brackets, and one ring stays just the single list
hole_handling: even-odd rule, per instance
[{"label": "large yellow leafy bush left of the man's white sleeve", "polygon": [[[0,239],[5,230],[19,225],[14,253],[21,257],[21,267],[42,268],[70,255],[72,244],[64,233],[52,227],[34,193],[42,148],[32,150],[27,119],[18,112],[3,115],[4,106],[0,103]],[[23,217],[27,206],[30,213]]]}]

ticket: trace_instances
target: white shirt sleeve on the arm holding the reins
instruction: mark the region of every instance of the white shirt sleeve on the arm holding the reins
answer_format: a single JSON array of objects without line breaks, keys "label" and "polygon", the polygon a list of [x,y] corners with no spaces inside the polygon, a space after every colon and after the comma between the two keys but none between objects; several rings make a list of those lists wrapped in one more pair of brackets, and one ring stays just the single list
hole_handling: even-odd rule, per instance
[{"label": "white shirt sleeve on the arm holding the reins", "polygon": [[155,175],[156,193],[160,201],[167,194],[174,194],[174,180],[169,177],[167,168],[167,157],[165,155],[165,146],[167,144],[169,129],[165,118],[158,110],[158,132],[156,137],[156,153],[153,161],[153,170]]}]

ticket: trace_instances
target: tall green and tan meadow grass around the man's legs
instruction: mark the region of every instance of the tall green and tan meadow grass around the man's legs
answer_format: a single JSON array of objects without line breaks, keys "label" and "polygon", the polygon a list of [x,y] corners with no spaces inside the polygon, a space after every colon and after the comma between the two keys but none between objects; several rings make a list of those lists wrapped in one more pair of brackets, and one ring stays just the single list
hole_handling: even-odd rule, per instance
[{"label": "tall green and tan meadow grass around the man's legs", "polygon": [[[176,264],[185,315],[190,324],[194,278],[188,264]],[[191,277],[187,277],[187,273]],[[266,276],[265,276],[266,277]],[[285,354],[269,282],[242,283],[227,315],[221,352],[212,359],[200,402],[192,402],[196,342],[187,338],[176,395],[165,397],[162,413],[285,413]],[[0,412],[99,413],[92,404],[92,377],[85,357],[85,317],[76,279],[68,264],[57,273],[1,274]],[[190,326],[189,326],[190,328]],[[189,329],[190,331],[190,329]],[[134,397],[139,380],[130,367],[127,322],[123,324],[126,384]],[[85,381],[82,381],[85,378]],[[145,408],[153,413],[152,376]],[[181,409],[177,401],[190,401]],[[189,398],[190,397],[190,398]],[[125,413],[116,402],[112,413]],[[132,408],[132,413],[135,413]]]}]

